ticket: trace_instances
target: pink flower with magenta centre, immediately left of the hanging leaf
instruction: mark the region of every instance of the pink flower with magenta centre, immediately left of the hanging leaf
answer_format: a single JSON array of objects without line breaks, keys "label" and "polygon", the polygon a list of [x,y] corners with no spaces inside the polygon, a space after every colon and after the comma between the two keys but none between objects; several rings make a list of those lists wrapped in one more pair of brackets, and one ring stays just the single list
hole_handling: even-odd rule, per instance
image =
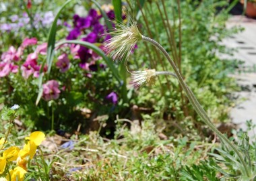
[{"label": "pink flower with magenta centre, immediately left of the hanging leaf", "polygon": [[31,74],[34,74],[34,77],[38,77],[39,76],[39,70],[40,70],[40,66],[38,66],[36,60],[37,60],[37,54],[36,53],[32,53],[29,54],[26,62],[22,65],[22,76],[26,79],[28,79],[28,77]]}]

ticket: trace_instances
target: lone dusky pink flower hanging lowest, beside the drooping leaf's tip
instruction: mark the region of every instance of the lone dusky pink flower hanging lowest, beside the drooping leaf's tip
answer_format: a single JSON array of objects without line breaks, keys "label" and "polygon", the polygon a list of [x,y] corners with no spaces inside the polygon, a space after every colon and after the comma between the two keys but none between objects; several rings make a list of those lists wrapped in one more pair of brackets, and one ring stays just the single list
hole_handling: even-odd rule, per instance
[{"label": "lone dusky pink flower hanging lowest, beside the drooping leaf's tip", "polygon": [[43,93],[42,98],[45,101],[50,101],[59,98],[59,83],[56,80],[49,80],[45,84],[42,84]]}]

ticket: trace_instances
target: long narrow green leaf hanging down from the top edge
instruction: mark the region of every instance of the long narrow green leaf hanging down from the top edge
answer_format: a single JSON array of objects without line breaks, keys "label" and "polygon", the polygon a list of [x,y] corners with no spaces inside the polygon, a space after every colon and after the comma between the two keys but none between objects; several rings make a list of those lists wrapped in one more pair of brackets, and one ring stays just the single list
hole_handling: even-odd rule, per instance
[{"label": "long narrow green leaf hanging down from the top edge", "polygon": [[59,18],[59,15],[61,14],[61,11],[64,9],[64,7],[70,3],[72,0],[66,1],[61,9],[59,9],[53,24],[51,25],[51,29],[48,36],[48,42],[47,42],[47,55],[46,55],[46,63],[48,66],[47,73],[50,73],[51,66],[53,64],[53,56],[54,56],[54,48],[55,48],[55,38],[56,38],[56,31],[57,31],[57,20]]}]

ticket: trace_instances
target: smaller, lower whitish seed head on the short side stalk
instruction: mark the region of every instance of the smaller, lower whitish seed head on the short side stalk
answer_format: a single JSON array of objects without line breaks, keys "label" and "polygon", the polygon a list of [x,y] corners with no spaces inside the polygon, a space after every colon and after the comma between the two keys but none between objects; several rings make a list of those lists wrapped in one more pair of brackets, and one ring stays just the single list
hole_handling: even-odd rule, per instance
[{"label": "smaller, lower whitish seed head on the short side stalk", "polygon": [[152,85],[156,82],[156,70],[144,70],[131,72],[131,84],[138,89],[143,84]]}]

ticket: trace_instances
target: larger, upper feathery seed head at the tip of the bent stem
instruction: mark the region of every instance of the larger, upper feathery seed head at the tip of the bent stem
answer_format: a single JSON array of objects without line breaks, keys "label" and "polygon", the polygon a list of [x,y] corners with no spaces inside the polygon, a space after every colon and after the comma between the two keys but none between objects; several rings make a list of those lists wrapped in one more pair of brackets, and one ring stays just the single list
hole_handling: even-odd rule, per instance
[{"label": "larger, upper feathery seed head at the tip of the bent stem", "polygon": [[141,34],[136,23],[130,26],[117,24],[117,27],[115,32],[110,33],[113,38],[107,41],[104,50],[114,60],[123,60],[129,57],[137,41],[141,40]]}]

